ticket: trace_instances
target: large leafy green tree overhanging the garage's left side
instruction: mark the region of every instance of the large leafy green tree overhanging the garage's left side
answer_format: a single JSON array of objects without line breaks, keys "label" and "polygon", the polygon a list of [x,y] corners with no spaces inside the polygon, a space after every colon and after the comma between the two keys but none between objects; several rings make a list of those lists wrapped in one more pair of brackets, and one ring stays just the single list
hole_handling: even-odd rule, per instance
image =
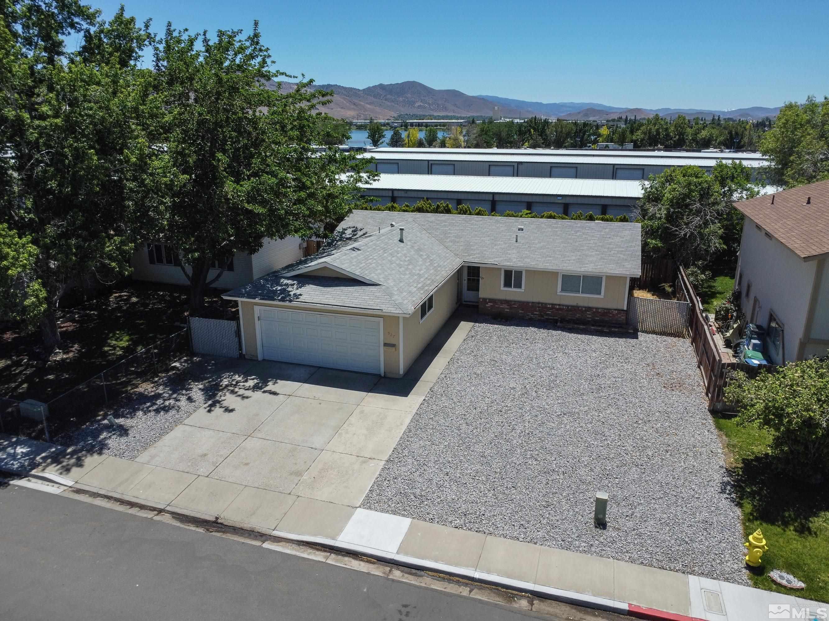
[{"label": "large leafy green tree overhanging the garage's left side", "polygon": [[314,109],[332,94],[310,80],[287,93],[266,89],[269,79],[293,77],[271,64],[256,23],[248,36],[212,39],[167,24],[153,46],[161,238],[177,248],[191,313],[234,253],[255,253],[264,238],[324,236],[375,175],[353,153],[314,152]]}]

